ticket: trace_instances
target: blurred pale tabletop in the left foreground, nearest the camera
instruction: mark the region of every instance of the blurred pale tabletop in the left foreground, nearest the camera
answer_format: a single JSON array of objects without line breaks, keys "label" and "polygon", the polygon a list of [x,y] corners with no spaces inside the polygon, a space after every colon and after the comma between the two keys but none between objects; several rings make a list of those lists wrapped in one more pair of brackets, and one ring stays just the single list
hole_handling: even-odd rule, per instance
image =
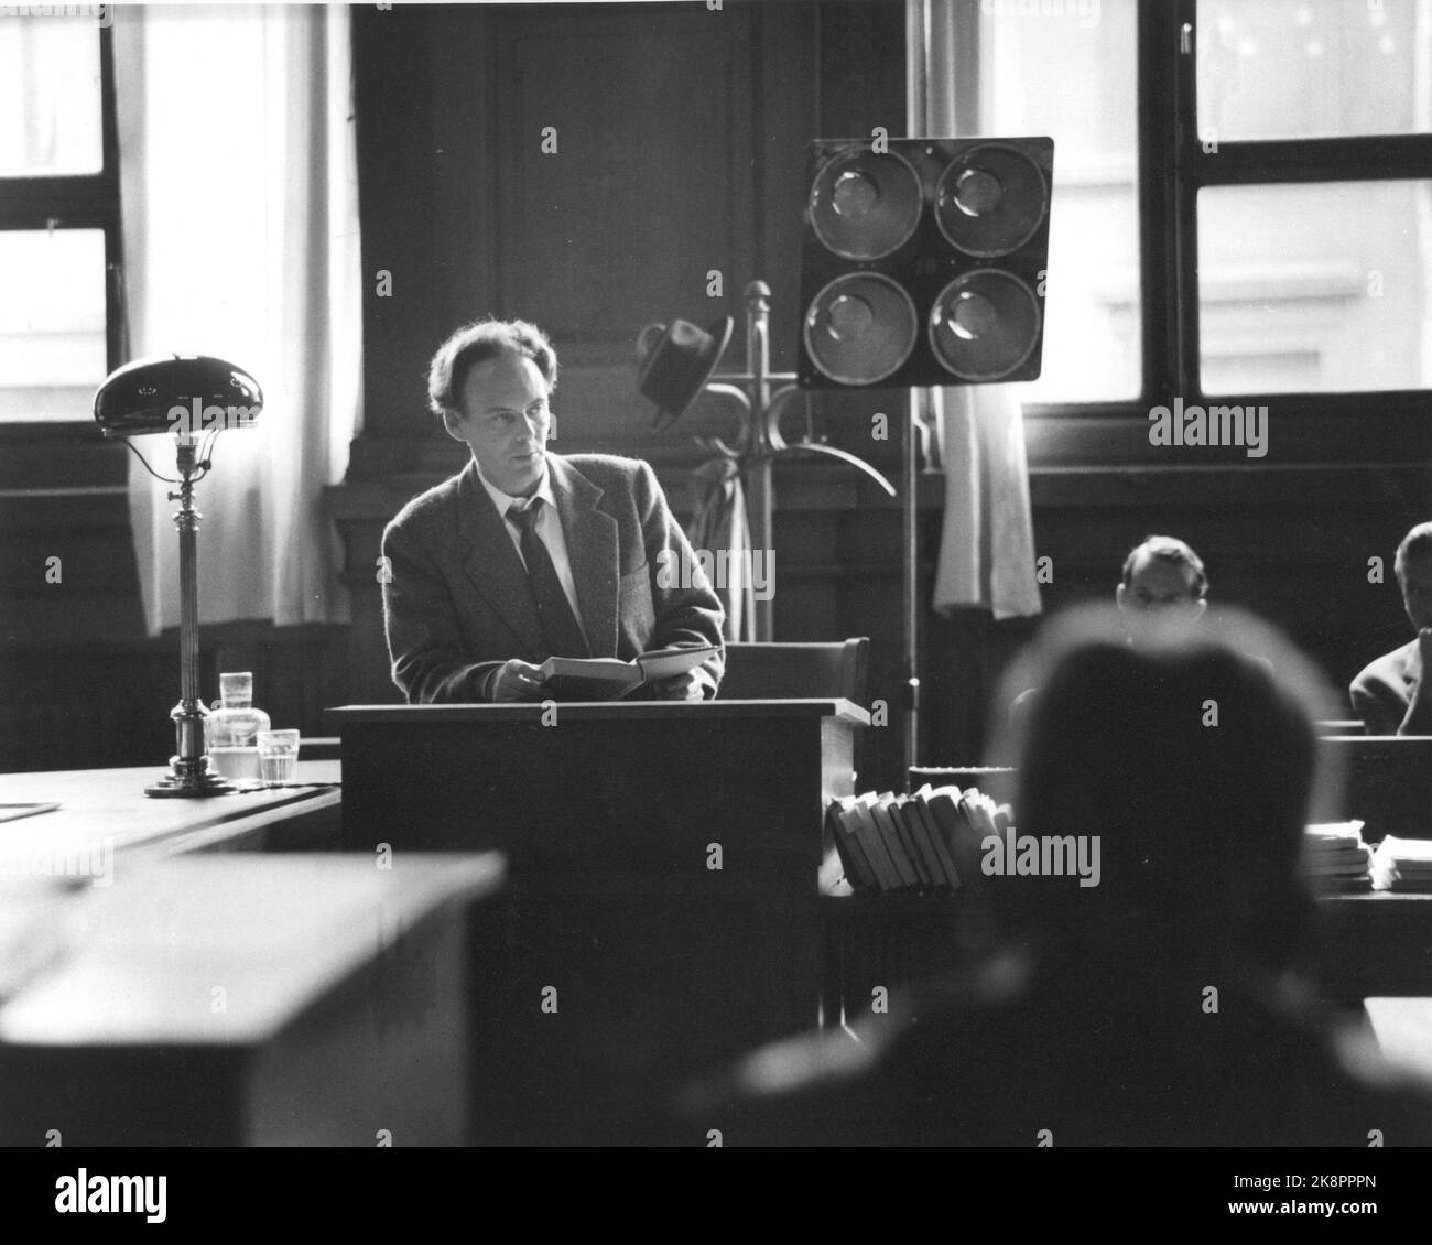
[{"label": "blurred pale tabletop in the left foreground, nearest the camera", "polygon": [[[495,852],[400,854],[388,870],[225,852],[147,864],[110,890],[52,888],[34,917],[57,943],[11,983],[0,1046],[266,1042],[375,957],[401,954],[400,936],[430,915],[495,895],[503,877]],[[16,888],[34,884],[0,883],[0,898]]]}]

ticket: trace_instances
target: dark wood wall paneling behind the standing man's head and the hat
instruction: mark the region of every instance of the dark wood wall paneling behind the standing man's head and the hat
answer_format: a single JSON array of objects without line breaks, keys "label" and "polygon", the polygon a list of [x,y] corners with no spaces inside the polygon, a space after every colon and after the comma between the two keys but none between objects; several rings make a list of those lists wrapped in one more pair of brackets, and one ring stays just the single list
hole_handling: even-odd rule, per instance
[{"label": "dark wood wall paneling behind the standing man's head and the hat", "polygon": [[[772,39],[795,21],[813,46],[812,6],[776,7]],[[779,64],[756,37],[762,11],[355,10],[365,436],[441,438],[424,414],[427,361],[457,324],[488,314],[553,334],[564,436],[564,415],[573,433],[617,443],[649,424],[634,384],[642,325],[739,311],[756,275],[756,153],[770,132],[760,77]],[[796,79],[786,93],[808,89]],[[554,153],[541,150],[546,126]],[[789,242],[772,249],[790,262]],[[381,268],[392,298],[372,294]],[[707,297],[710,269],[720,298]]]}]

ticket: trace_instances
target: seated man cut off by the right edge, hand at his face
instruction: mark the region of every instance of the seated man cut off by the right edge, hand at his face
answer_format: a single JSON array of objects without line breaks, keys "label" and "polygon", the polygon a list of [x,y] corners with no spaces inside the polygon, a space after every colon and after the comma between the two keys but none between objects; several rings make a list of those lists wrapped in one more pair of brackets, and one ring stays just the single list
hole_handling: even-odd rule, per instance
[{"label": "seated man cut off by the right edge, hand at his face", "polygon": [[1353,712],[1369,735],[1432,735],[1432,523],[1419,523],[1393,562],[1402,606],[1418,632],[1412,643],[1383,653],[1352,681]]}]

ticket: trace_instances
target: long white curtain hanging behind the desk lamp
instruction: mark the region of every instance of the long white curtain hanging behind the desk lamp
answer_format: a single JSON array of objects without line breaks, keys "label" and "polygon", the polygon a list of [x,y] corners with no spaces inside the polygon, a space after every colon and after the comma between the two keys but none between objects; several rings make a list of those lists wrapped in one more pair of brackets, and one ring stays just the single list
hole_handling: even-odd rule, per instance
[{"label": "long white curtain hanging behind the desk lamp", "polygon": [[[347,620],[322,486],[358,424],[361,289],[347,6],[123,6],[115,19],[129,355],[253,375],[255,428],[198,486],[200,622]],[[175,473],[166,437],[137,448]],[[179,622],[168,486],[130,463],[150,632]]]}]

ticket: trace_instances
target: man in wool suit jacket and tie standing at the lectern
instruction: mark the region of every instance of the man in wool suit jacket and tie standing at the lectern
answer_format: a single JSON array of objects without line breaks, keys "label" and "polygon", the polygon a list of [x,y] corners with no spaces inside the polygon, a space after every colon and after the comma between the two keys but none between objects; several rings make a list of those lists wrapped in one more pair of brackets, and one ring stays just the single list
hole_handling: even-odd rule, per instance
[{"label": "man in wool suit jacket and tie standing at the lectern", "polygon": [[[428,397],[473,460],[382,537],[392,678],[410,703],[534,701],[548,656],[722,646],[723,612],[650,466],[547,451],[557,357],[541,330],[487,321],[432,360]],[[654,685],[713,696],[725,653]]]}]

